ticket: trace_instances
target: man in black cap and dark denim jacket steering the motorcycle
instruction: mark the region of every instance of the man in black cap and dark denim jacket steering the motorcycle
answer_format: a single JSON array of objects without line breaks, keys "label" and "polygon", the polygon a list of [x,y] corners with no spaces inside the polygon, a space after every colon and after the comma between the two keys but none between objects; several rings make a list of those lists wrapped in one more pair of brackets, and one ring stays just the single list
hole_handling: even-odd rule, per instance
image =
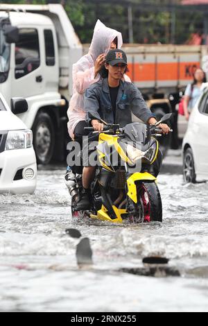
[{"label": "man in black cap and dark denim jacket steering the motorcycle", "polygon": [[[128,70],[127,57],[121,49],[107,53],[105,69],[108,77],[91,85],[85,92],[85,110],[89,126],[94,130],[103,131],[105,123],[118,123],[121,128],[132,123],[132,112],[136,117],[154,125],[157,120],[147,107],[139,89],[134,84],[123,81],[123,75]],[[170,128],[161,123],[159,128],[168,134]],[[83,169],[83,196],[77,209],[87,210],[90,206],[90,185],[94,179],[96,168],[85,166]]]}]

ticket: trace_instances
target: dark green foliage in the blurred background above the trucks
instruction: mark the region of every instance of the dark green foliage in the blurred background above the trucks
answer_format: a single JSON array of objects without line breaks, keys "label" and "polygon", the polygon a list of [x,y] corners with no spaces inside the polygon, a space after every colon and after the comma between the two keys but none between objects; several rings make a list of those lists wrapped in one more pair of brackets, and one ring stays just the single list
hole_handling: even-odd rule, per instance
[{"label": "dark green foliage in the blurred background above the trucks", "polygon": [[[3,0],[4,3],[49,3],[48,0]],[[82,43],[92,40],[97,19],[116,28],[129,42],[128,3],[132,3],[133,34],[135,43],[184,44],[191,33],[203,31],[204,14],[201,11],[170,11],[180,0],[60,0]],[[142,5],[142,6],[139,6]],[[168,7],[169,6],[169,7]],[[208,7],[208,6],[207,6]],[[173,9],[173,8],[172,8]],[[174,27],[175,26],[175,27]]]}]

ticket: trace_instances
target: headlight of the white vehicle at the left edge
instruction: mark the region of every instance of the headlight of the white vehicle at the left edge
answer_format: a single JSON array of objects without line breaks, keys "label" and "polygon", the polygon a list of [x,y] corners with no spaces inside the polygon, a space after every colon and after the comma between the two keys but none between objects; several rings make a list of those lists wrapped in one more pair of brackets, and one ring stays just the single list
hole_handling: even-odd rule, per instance
[{"label": "headlight of the white vehicle at the left edge", "polygon": [[8,132],[5,151],[30,148],[33,146],[32,130],[11,130]]}]

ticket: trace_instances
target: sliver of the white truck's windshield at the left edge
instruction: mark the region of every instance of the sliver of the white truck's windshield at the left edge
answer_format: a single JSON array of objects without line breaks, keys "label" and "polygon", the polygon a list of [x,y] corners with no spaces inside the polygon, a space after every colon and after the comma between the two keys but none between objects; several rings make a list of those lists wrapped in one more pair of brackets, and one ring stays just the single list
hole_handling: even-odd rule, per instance
[{"label": "sliver of the white truck's windshield at the left edge", "polygon": [[3,30],[0,26],[0,83],[8,78],[10,64],[10,44],[6,43]]}]

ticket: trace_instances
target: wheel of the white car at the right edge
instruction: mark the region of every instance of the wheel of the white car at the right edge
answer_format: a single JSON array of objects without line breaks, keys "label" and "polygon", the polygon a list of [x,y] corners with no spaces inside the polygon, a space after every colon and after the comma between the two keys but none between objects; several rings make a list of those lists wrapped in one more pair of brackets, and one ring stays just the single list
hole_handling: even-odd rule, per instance
[{"label": "wheel of the white car at the right edge", "polygon": [[183,160],[183,175],[184,175],[184,182],[187,183],[196,183],[196,172],[193,160],[193,151],[191,148],[187,148],[184,153],[184,160]]}]

